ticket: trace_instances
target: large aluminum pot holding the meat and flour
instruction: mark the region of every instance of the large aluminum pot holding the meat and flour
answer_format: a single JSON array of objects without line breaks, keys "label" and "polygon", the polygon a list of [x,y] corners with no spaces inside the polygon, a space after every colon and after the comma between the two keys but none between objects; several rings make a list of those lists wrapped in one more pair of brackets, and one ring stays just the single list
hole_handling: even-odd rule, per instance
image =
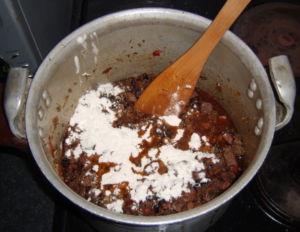
[{"label": "large aluminum pot holding the meat and flour", "polygon": [[[68,35],[38,68],[26,100],[25,125],[30,149],[48,180],[82,210],[96,229],[206,230],[220,218],[232,197],[247,185],[261,166],[275,126],[280,128],[285,124],[277,122],[276,125],[275,98],[265,69],[239,38],[227,32],[209,57],[202,71],[205,78],[199,79],[198,86],[215,96],[244,137],[245,171],[228,190],[186,212],[139,217],[92,204],[58,177],[53,155],[60,158],[61,142],[79,97],[98,84],[145,72],[160,73],[193,45],[210,22],[198,15],[171,9],[141,8],[117,12]],[[162,51],[160,56],[152,55],[156,50]],[[279,66],[272,68],[274,73]],[[285,69],[282,67],[279,69]],[[111,69],[108,71],[108,68]],[[280,89],[284,83],[278,86]],[[292,99],[295,87],[289,88],[292,95],[289,99]],[[283,104],[287,106],[283,107],[283,119],[288,121],[293,100],[287,101],[292,102]],[[56,151],[53,153],[51,148]]]}]

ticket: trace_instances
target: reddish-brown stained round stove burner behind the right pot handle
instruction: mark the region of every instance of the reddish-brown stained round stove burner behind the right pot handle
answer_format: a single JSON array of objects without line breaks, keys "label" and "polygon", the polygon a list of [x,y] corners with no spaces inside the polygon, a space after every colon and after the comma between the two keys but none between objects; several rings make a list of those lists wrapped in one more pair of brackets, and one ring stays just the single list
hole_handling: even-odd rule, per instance
[{"label": "reddish-brown stained round stove burner behind the right pot handle", "polygon": [[287,55],[295,77],[300,76],[300,6],[267,3],[246,11],[233,33],[256,54],[262,65],[274,56]]}]

